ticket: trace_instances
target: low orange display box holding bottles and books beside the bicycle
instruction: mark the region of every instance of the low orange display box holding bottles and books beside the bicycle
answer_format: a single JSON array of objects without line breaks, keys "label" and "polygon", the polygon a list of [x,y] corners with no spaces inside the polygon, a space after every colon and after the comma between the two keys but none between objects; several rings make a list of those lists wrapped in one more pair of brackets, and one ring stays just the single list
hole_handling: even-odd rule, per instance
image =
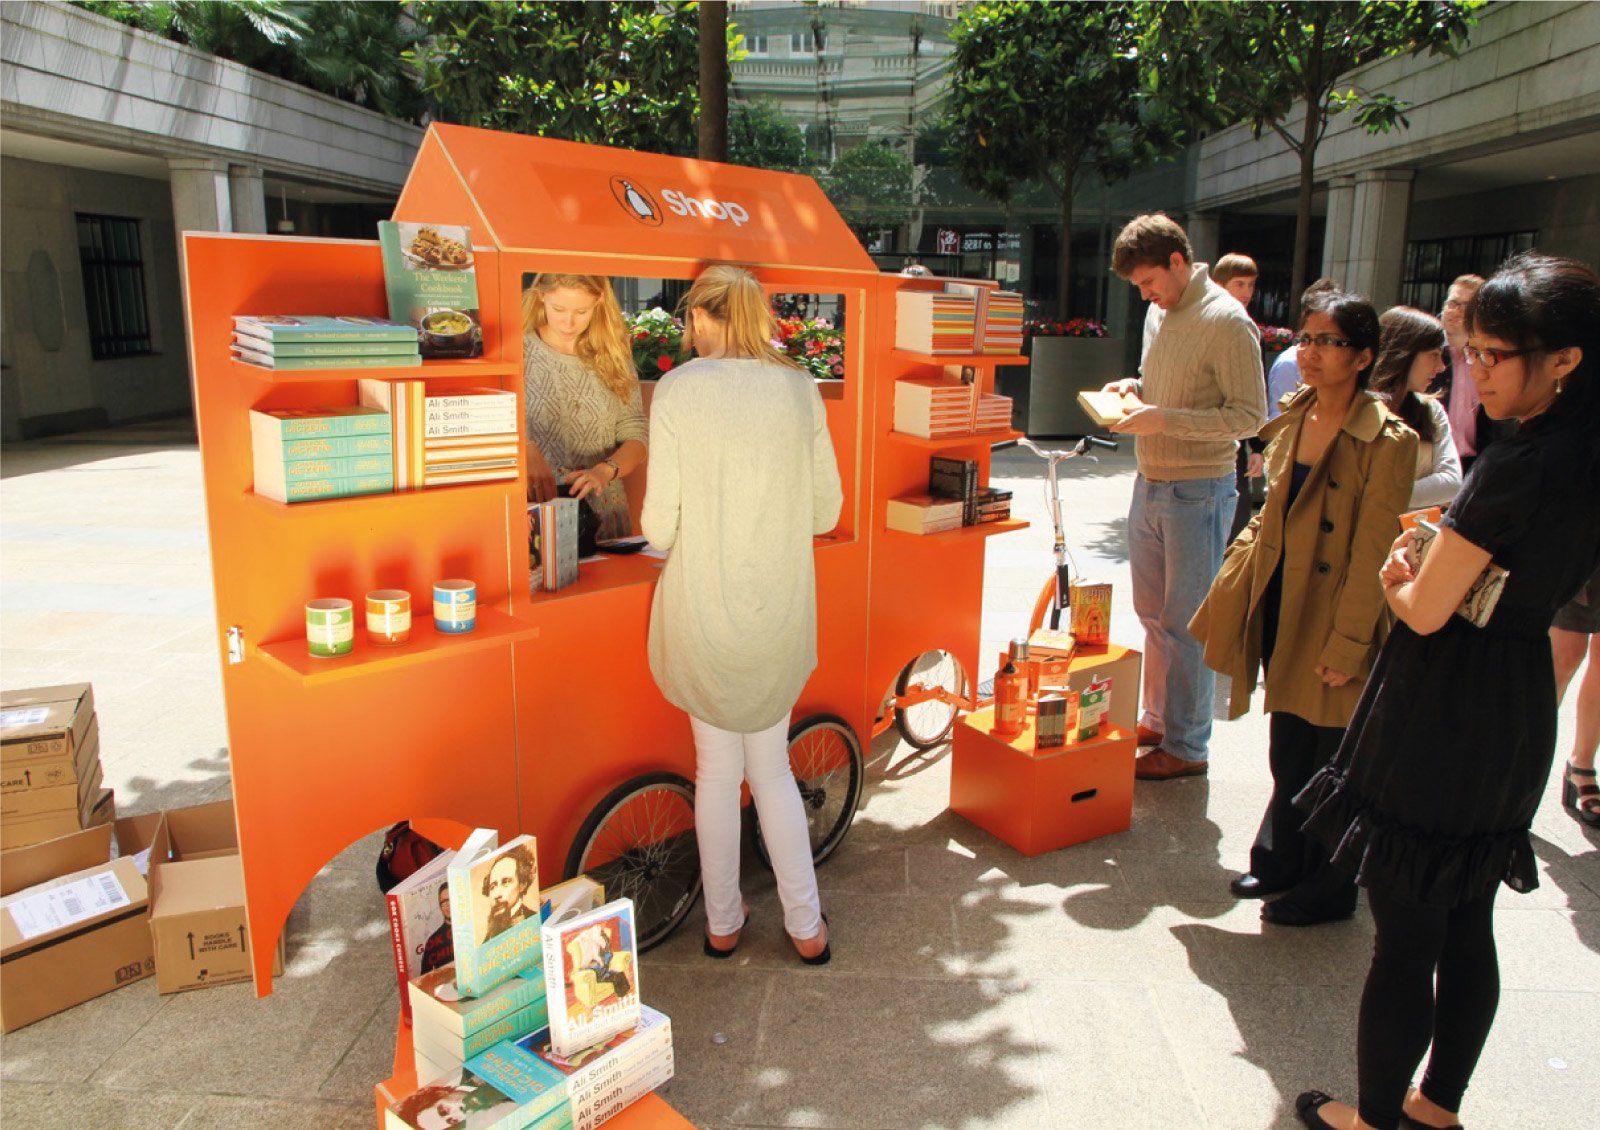
[{"label": "low orange display box holding bottles and books beside the bicycle", "polygon": [[1107,727],[1086,743],[1038,749],[1034,727],[1029,719],[1016,736],[990,733],[994,707],[957,719],[950,811],[1022,855],[1126,831],[1133,823],[1133,731]]}]

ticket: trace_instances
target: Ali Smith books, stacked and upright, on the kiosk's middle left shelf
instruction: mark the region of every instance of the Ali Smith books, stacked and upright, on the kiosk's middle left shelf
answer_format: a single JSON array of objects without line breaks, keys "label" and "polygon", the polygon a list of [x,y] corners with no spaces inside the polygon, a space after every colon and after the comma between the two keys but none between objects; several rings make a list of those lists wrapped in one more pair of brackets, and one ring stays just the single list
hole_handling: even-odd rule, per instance
[{"label": "Ali Smith books, stacked and upright, on the kiosk's middle left shelf", "polygon": [[429,392],[424,381],[360,383],[360,402],[394,419],[394,490],[517,479],[517,394]]}]

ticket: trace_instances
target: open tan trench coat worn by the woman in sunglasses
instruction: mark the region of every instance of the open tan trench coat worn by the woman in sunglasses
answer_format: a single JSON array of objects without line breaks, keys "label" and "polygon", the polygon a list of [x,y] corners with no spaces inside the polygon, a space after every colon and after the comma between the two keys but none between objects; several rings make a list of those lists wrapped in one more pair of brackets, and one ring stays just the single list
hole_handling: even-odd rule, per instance
[{"label": "open tan trench coat worn by the woman in sunglasses", "polygon": [[[1315,391],[1302,386],[1285,399],[1283,415],[1261,429],[1269,440],[1267,504],[1227,547],[1210,594],[1189,621],[1205,647],[1206,666],[1234,680],[1230,719],[1250,707],[1261,667],[1261,597],[1280,557],[1283,595],[1266,711],[1320,727],[1347,725],[1387,631],[1378,570],[1411,498],[1416,432],[1378,397],[1357,394],[1344,427],[1285,514],[1294,448],[1315,400]],[[1317,664],[1354,679],[1328,687]]]}]

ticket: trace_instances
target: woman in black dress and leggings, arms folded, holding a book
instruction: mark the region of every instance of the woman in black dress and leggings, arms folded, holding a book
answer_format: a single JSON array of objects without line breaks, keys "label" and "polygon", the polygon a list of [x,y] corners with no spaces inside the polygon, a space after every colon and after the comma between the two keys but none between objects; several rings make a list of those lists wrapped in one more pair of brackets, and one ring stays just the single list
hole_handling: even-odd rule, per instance
[{"label": "woman in black dress and leggings, arms folded, holding a book", "polygon": [[[1494,895],[1538,887],[1528,827],[1555,754],[1546,632],[1600,563],[1600,275],[1528,251],[1467,311],[1478,399],[1517,419],[1486,448],[1416,568],[1382,567],[1398,616],[1334,763],[1296,803],[1366,887],[1376,938],[1357,1039],[1360,1108],[1306,1092],[1322,1130],[1454,1127],[1499,1002]],[[1478,627],[1456,615],[1507,570]],[[1429,1052],[1421,1085],[1411,1072]]]}]

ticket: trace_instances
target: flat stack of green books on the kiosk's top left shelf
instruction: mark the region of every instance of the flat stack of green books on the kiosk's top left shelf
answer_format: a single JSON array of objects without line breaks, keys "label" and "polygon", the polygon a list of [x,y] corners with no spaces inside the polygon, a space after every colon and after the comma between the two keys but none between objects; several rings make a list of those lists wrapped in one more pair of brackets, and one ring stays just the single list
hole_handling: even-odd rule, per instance
[{"label": "flat stack of green books on the kiosk's top left shelf", "polygon": [[280,371],[422,363],[416,327],[360,314],[240,314],[232,354],[246,365]]}]

